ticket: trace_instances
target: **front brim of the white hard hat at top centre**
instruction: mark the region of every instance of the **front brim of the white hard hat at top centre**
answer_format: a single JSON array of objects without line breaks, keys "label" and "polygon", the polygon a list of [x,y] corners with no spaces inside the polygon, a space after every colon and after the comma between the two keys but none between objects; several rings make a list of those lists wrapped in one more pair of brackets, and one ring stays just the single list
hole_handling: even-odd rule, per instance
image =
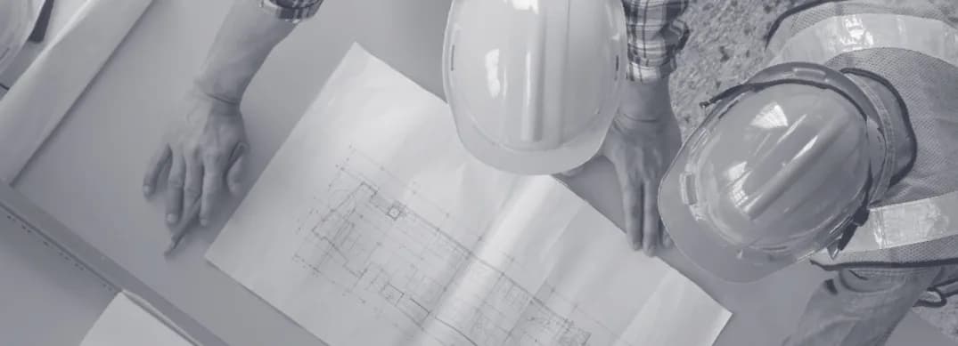
[{"label": "front brim of the white hard hat at top centre", "polygon": [[463,146],[476,159],[508,172],[525,175],[558,174],[591,160],[602,147],[616,111],[606,110],[600,119],[574,141],[551,150],[517,151],[490,141],[464,112],[452,112]]}]

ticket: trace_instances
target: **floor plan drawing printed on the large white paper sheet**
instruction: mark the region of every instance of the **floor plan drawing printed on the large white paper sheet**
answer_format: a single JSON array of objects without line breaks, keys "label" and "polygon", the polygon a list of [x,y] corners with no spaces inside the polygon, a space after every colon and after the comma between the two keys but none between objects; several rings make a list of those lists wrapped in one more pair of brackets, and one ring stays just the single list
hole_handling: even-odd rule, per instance
[{"label": "floor plan drawing printed on the large white paper sheet", "polygon": [[[352,149],[337,165],[328,190],[321,191],[328,201],[317,199],[313,204],[317,206],[299,220],[296,231],[304,241],[292,260],[314,277],[322,277],[364,304],[385,302],[386,309],[398,311],[416,327],[408,337],[413,331],[426,332],[445,345],[572,346],[589,345],[594,333],[616,338],[549,283],[538,294],[528,291],[418,210],[386,196],[360,173],[370,169],[389,176],[381,165]],[[406,196],[417,195],[406,192]],[[432,215],[449,219],[447,212],[436,208]],[[512,256],[506,260],[515,266]],[[574,317],[557,313],[550,304],[570,306],[575,318],[588,318],[601,330],[585,330]],[[382,308],[373,304],[376,312]],[[434,333],[436,326],[450,333]]]}]

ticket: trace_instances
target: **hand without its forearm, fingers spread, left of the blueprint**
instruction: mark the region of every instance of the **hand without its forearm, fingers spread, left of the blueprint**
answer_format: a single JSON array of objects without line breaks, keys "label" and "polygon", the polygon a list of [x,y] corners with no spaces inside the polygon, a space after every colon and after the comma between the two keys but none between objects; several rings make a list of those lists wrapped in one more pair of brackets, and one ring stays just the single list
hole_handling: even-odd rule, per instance
[{"label": "hand without its forearm, fingers spread, left of the blueprint", "polygon": [[239,193],[246,132],[239,104],[194,90],[180,106],[149,162],[143,191],[147,196],[155,193],[160,173],[169,167],[167,224],[188,224],[198,211],[200,225],[206,226],[223,187]]}]

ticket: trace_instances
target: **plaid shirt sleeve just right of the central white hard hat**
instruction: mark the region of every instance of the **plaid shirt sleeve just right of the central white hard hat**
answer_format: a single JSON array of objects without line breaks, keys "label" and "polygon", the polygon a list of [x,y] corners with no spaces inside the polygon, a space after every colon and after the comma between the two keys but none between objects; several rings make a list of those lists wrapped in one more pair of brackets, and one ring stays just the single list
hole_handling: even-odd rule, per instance
[{"label": "plaid shirt sleeve just right of the central white hard hat", "polygon": [[689,37],[678,16],[688,0],[622,0],[628,32],[628,79],[650,82],[675,70],[675,54]]}]

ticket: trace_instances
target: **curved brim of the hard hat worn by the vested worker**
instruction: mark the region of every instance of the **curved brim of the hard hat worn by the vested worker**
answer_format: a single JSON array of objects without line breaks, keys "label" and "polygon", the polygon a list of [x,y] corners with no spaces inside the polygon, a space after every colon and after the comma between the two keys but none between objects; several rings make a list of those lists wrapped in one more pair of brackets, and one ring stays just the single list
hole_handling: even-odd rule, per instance
[{"label": "curved brim of the hard hat worn by the vested worker", "polygon": [[[686,143],[694,142],[696,135]],[[718,231],[696,221],[696,215],[683,201],[682,196],[687,192],[683,191],[680,182],[683,179],[682,167],[689,160],[688,151],[683,144],[659,185],[659,215],[675,248],[700,270],[736,283],[758,281],[794,264],[796,260],[788,258],[767,258],[763,261],[740,258],[737,245],[719,237]]]}]

